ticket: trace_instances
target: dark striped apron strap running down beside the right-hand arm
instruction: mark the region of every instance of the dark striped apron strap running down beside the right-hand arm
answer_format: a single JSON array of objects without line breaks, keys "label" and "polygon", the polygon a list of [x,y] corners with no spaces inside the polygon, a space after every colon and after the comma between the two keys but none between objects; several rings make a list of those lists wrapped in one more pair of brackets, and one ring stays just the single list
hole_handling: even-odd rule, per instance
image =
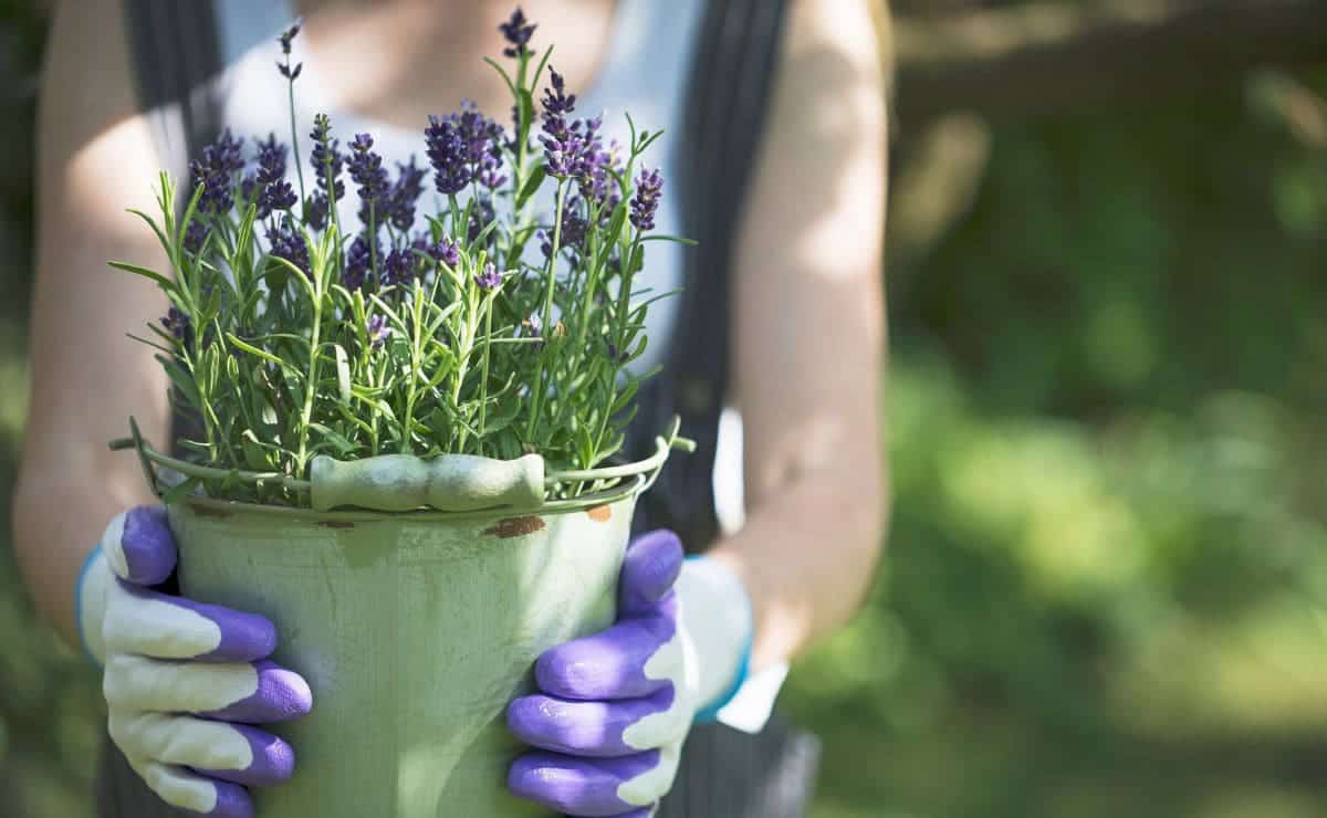
[{"label": "dark striped apron strap running down beside the right-hand arm", "polygon": [[733,256],[742,208],[759,156],[787,0],[711,0],[691,66],[687,121],[679,143],[678,187],[686,236],[683,290],[669,365],[641,387],[628,453],[645,456],[667,419],[697,451],[673,457],[637,510],[637,528],[669,528],[689,549],[719,534],[714,455],[729,392],[729,310]]}]

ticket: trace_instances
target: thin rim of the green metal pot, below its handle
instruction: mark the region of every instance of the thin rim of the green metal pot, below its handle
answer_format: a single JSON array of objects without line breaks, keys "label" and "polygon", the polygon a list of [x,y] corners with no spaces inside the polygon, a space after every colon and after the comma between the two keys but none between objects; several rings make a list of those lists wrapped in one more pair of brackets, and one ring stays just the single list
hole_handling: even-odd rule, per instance
[{"label": "thin rim of the green metal pot, below its handle", "polygon": [[318,522],[361,522],[382,520],[411,522],[471,522],[510,517],[545,517],[569,514],[580,510],[593,510],[605,505],[634,501],[646,488],[649,488],[650,483],[652,481],[645,475],[637,475],[633,480],[613,488],[581,495],[580,497],[573,497],[571,500],[548,500],[537,508],[495,506],[475,509],[472,512],[439,512],[435,509],[415,509],[410,512],[378,512],[373,509],[318,512],[312,508],[296,505],[264,505],[260,502],[223,500],[220,497],[207,497],[203,495],[188,495],[173,505],[191,506],[191,512],[202,513],[203,516],[207,516],[211,512],[216,516],[245,513],[280,517],[285,520],[316,520]]}]

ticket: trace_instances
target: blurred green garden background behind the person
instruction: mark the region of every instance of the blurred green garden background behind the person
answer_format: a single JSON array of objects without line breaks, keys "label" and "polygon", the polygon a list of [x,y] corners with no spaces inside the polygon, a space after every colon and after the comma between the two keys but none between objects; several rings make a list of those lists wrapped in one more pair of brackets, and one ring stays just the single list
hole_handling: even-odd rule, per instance
[{"label": "blurred green garden background behind the person", "polygon": [[[910,61],[949,20],[1044,33],[979,5],[896,3],[896,510],[869,607],[786,696],[825,740],[815,818],[1323,815],[1327,73],[1269,42],[1295,68],[1208,50],[1222,70],[1164,94],[910,98],[942,93]],[[42,33],[0,3],[0,496]],[[84,815],[97,683],[0,517],[0,815]]]}]

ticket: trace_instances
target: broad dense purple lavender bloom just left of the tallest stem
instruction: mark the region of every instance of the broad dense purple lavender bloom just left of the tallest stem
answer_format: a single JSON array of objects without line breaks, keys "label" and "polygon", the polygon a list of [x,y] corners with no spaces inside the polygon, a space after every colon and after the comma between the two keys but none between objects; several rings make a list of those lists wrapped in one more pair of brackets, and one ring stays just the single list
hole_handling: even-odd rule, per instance
[{"label": "broad dense purple lavender bloom just left of the tallest stem", "polygon": [[503,129],[474,102],[462,102],[460,110],[446,118],[430,115],[423,134],[439,194],[454,196],[472,182],[492,190],[507,180],[502,172]]}]

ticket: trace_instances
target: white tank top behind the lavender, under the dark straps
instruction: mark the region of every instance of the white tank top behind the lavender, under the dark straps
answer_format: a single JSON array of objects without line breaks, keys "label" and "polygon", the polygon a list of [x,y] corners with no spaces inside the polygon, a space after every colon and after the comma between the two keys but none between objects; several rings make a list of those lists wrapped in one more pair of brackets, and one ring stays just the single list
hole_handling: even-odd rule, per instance
[{"label": "white tank top behind the lavender, under the dark straps", "polygon": [[[280,60],[277,36],[291,25],[296,13],[289,0],[276,3],[218,3],[218,28],[220,32],[220,52],[226,73],[219,89],[222,93],[222,125],[236,135],[247,137],[247,156],[252,156],[253,138],[275,133],[281,142],[291,141],[291,121],[287,101],[285,78],[276,70]],[[683,235],[679,196],[677,191],[678,141],[683,123],[686,82],[691,64],[693,48],[697,40],[702,0],[618,0],[609,34],[609,53],[594,85],[588,89],[569,89],[576,93],[577,117],[604,115],[604,143],[616,139],[621,145],[630,142],[625,114],[630,113],[638,129],[662,130],[664,137],[654,143],[644,156],[649,167],[660,167],[665,179],[664,200],[656,217],[656,229],[662,235]],[[494,30],[492,52],[499,56],[502,36]],[[295,114],[300,134],[301,160],[308,166],[312,147],[308,134],[313,127],[313,115],[325,113],[332,119],[333,134],[345,145],[357,133],[373,135],[373,147],[382,155],[384,167],[395,171],[398,162],[405,163],[414,155],[417,164],[427,167],[425,155],[423,129],[403,129],[393,123],[369,119],[344,111],[337,105],[336,95],[318,82],[316,60],[301,53],[300,41],[295,41],[293,61],[304,62],[304,70],[295,84]],[[460,99],[438,99],[438,114],[449,114],[460,106]],[[507,111],[484,111],[499,122],[507,118]],[[288,176],[295,186],[293,158],[287,163]],[[311,168],[305,167],[305,183]],[[354,186],[346,179],[348,194],[341,200],[337,216],[346,232],[358,229],[358,199]],[[540,220],[552,221],[552,186],[544,186],[543,196],[535,200]],[[433,184],[427,183],[415,215],[415,229],[425,229],[423,213],[442,209],[435,207]],[[500,204],[500,203],[499,203]],[[531,251],[537,253],[537,243],[531,243]],[[543,259],[533,260],[540,264]],[[646,265],[638,276],[641,289],[653,294],[675,290],[682,285],[682,248],[670,241],[650,243]],[[678,298],[656,301],[648,313],[646,331],[649,345],[645,355],[637,362],[642,370],[664,363],[669,339],[675,322]]]}]

